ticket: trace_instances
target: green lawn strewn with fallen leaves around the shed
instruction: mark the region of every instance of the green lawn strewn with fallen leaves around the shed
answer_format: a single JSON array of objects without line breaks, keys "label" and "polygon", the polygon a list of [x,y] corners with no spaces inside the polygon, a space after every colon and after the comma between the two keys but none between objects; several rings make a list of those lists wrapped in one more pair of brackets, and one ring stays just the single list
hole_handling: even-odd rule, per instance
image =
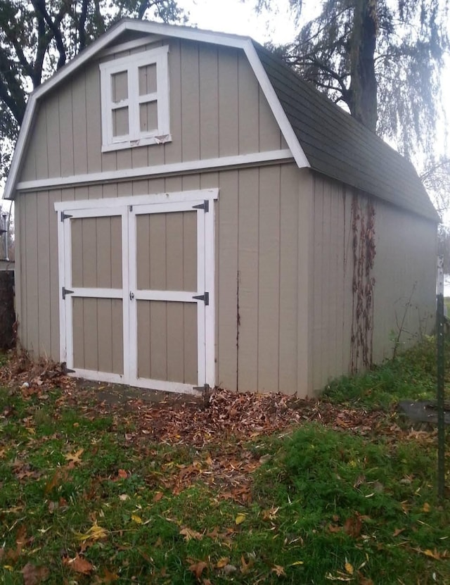
[{"label": "green lawn strewn with fallen leaves around the shed", "polygon": [[[427,341],[335,382],[326,400],[388,408],[431,396],[431,356]],[[199,450],[131,440],[127,415],[93,413],[58,389],[0,389],[1,583],[22,584],[25,566],[55,585],[450,583],[430,433],[309,423]],[[224,458],[252,464],[245,503],[217,471]]]}]

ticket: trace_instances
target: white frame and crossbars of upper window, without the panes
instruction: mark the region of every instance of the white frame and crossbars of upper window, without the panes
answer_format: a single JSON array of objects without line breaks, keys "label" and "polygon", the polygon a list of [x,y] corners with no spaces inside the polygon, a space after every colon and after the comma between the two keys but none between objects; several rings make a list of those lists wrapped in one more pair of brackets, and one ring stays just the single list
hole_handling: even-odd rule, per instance
[{"label": "white frame and crossbars of upper window, without the panes", "polygon": [[[100,64],[101,76],[101,122],[102,151],[129,149],[132,146],[162,144],[172,140],[169,120],[169,46],[128,55]],[[156,92],[139,96],[139,68],[156,65]],[[117,73],[127,73],[128,97],[113,102],[111,79]],[[158,104],[158,128],[152,132],[142,132],[139,106],[141,103],[155,101]],[[113,111],[128,108],[128,134],[113,135]]]}]

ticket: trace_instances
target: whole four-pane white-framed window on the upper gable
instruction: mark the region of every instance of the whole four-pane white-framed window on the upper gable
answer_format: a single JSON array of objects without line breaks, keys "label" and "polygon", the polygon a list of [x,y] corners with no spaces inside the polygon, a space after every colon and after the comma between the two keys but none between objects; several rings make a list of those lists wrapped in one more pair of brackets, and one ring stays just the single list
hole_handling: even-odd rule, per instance
[{"label": "whole four-pane white-framed window on the upper gable", "polygon": [[160,46],[101,63],[103,152],[171,140],[168,51]]}]

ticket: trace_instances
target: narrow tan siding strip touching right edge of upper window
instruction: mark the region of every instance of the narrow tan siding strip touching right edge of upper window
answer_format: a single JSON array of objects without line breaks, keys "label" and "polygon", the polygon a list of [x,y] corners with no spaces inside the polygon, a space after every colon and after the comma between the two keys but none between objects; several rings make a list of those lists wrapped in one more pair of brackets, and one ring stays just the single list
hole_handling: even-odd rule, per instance
[{"label": "narrow tan siding strip touching right edge of upper window", "polygon": [[[169,51],[170,133],[172,142],[164,145],[165,163],[181,161],[181,49],[178,39],[172,39]],[[150,163],[150,156],[149,156]]]}]

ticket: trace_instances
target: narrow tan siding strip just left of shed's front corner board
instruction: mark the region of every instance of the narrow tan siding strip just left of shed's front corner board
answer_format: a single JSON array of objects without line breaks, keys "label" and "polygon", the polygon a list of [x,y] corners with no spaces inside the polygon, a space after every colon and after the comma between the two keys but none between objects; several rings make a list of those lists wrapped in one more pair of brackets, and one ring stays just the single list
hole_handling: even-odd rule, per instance
[{"label": "narrow tan siding strip just left of shed's front corner board", "polygon": [[298,171],[281,167],[279,381],[281,392],[297,389]]}]

